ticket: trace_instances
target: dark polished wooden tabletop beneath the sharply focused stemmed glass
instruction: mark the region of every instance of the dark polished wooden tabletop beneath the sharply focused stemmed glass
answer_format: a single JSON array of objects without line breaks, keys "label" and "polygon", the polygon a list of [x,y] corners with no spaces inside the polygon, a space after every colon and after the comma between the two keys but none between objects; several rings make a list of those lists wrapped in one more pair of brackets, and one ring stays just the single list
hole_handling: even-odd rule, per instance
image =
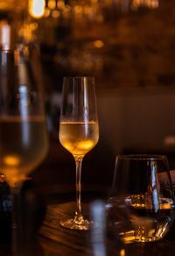
[{"label": "dark polished wooden tabletop beneath the sharply focused stemmed glass", "polygon": [[[102,205],[102,201],[94,201]],[[89,204],[83,204],[85,212]],[[96,226],[88,231],[66,230],[59,226],[59,220],[71,216],[75,205],[66,202],[51,205],[47,208],[45,221],[39,230],[39,241],[48,255],[174,255],[175,230],[168,233],[166,238],[151,243],[135,243],[123,245],[117,234],[111,234],[102,227]],[[99,221],[99,220],[97,220]],[[103,233],[102,233],[103,231]],[[46,255],[47,255],[46,254]]]}]

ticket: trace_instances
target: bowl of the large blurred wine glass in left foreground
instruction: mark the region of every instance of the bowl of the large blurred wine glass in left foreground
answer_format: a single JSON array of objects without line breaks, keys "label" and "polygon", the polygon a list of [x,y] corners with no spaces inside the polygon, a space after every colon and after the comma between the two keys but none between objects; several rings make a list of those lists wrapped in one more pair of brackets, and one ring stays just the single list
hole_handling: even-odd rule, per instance
[{"label": "bowl of the large blurred wine glass in left foreground", "polygon": [[14,196],[47,153],[37,59],[38,48],[24,45],[0,52],[0,170]]}]

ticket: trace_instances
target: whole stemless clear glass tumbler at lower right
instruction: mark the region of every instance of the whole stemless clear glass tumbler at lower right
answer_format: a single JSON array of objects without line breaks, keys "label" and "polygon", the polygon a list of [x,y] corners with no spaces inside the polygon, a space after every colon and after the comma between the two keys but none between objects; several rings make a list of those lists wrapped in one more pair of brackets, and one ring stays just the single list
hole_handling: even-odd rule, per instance
[{"label": "whole stemless clear glass tumbler at lower right", "polygon": [[175,216],[167,157],[117,156],[106,208],[124,243],[164,238]]}]

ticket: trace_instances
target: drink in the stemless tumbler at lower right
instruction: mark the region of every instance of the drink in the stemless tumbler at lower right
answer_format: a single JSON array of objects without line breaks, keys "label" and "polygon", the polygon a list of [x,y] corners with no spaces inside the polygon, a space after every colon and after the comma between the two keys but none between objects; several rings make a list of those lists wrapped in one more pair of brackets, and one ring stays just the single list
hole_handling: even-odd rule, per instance
[{"label": "drink in the stemless tumbler at lower right", "polygon": [[109,205],[109,218],[125,243],[163,238],[174,220],[173,201],[169,198],[159,198],[158,205],[153,206],[150,197],[138,194],[127,197],[125,205],[120,200]]}]

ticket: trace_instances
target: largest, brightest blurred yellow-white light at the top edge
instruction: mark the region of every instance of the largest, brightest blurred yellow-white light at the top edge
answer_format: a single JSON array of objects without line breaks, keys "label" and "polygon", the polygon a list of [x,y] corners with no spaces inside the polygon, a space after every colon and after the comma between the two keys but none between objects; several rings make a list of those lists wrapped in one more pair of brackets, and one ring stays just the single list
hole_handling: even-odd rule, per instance
[{"label": "largest, brightest blurred yellow-white light at the top edge", "polygon": [[29,1],[29,14],[33,18],[42,18],[45,13],[45,0]]}]

